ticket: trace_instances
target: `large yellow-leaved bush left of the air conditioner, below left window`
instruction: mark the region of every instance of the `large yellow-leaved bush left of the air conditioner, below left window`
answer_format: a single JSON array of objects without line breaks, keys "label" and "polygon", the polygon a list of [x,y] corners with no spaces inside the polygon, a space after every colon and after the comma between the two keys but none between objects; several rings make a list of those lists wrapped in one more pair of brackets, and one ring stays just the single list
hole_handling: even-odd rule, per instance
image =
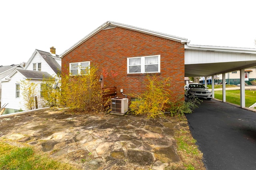
[{"label": "large yellow-leaved bush left of the air conditioner, below left window", "polygon": [[103,111],[103,102],[97,67],[90,65],[82,75],[62,75],[61,103],[76,111]]}]

